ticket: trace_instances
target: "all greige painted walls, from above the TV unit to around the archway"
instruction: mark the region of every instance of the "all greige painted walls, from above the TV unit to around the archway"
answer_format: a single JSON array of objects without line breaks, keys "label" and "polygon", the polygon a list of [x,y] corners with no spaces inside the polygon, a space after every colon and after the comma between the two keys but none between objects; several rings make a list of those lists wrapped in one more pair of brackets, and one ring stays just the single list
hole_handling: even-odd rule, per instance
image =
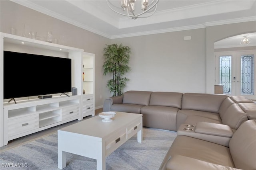
[{"label": "all greige painted walls, from above the TV unit to around the archway", "polygon": [[[14,27],[21,35],[24,24],[42,38],[47,31],[64,45],[95,54],[95,105],[111,96],[106,88],[109,76],[102,76],[105,44],[123,43],[132,49],[130,79],[126,90],[214,93],[214,42],[242,33],[256,32],[256,21],[210,26],[202,29],[108,39],[64,21],[36,12],[10,1],[0,1],[0,31]],[[189,41],[183,37],[190,35]],[[102,96],[102,98],[100,98]]]}]

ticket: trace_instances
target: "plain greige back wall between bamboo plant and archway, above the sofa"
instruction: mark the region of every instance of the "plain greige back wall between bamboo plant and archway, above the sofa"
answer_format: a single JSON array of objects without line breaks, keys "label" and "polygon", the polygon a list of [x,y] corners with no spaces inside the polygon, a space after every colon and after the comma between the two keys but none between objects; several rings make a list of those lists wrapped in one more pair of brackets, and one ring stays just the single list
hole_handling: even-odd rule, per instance
[{"label": "plain greige back wall between bamboo plant and archway, above the sofa", "polygon": [[[183,37],[192,39],[184,41]],[[126,90],[205,92],[205,29],[113,39],[132,49]],[[125,90],[125,91],[126,91]]]}]

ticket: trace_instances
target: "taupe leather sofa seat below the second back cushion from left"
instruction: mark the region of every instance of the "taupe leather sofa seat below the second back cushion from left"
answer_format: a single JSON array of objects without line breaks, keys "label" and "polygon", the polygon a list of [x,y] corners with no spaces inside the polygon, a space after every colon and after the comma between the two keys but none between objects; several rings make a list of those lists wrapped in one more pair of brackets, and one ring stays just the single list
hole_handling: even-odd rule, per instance
[{"label": "taupe leather sofa seat below the second back cushion from left", "polygon": [[176,115],[179,109],[167,106],[144,106],[143,126],[176,131]]}]

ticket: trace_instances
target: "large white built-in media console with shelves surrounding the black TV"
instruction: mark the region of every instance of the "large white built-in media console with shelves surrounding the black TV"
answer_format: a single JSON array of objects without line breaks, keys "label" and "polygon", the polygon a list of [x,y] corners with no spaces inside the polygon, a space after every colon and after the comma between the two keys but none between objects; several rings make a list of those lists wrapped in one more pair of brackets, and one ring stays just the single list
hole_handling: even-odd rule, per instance
[{"label": "large white built-in media console with shelves surrounding the black TV", "polygon": [[[94,115],[94,54],[8,33],[0,33],[0,36],[0,147],[12,139]],[[4,50],[72,59],[72,87],[77,88],[77,95],[16,100],[17,104],[4,101]]]}]

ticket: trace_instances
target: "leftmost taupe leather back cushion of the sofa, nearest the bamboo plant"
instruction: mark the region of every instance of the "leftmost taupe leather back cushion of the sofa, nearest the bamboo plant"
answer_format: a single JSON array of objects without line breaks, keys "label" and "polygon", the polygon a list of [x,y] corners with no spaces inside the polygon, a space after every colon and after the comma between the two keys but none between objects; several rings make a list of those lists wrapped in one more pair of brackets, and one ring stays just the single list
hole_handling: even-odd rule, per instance
[{"label": "leftmost taupe leather back cushion of the sofa, nearest the bamboo plant", "polygon": [[151,93],[148,91],[127,91],[124,93],[123,104],[148,106]]}]

